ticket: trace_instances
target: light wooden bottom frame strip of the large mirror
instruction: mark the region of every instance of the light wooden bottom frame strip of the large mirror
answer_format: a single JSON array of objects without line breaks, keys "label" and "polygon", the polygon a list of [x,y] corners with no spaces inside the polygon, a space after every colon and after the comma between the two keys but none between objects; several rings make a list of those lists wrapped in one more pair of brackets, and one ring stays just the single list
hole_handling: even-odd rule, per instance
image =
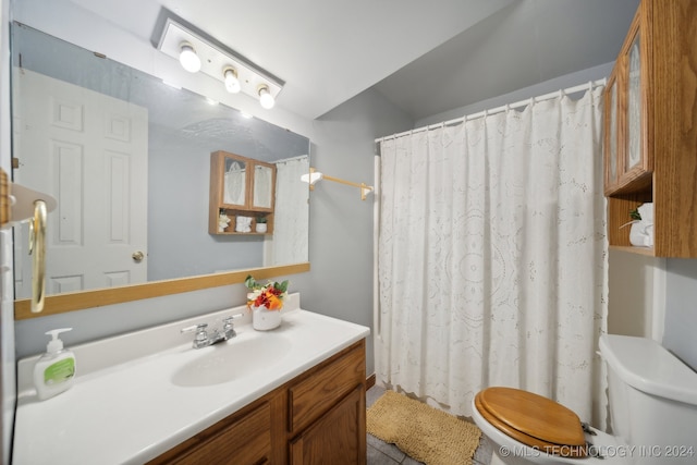
[{"label": "light wooden bottom frame strip of the large mirror", "polygon": [[241,271],[155,281],[151,283],[132,284],[113,289],[108,287],[48,295],[46,296],[44,311],[39,314],[32,313],[30,299],[24,298],[21,301],[14,301],[14,319],[16,321],[39,318],[49,315],[64,314],[68,311],[103,307],[106,305],[124,304],[126,302],[140,301],[144,298],[161,297],[164,295],[181,294],[184,292],[199,291],[203,289],[218,287],[222,285],[240,284],[245,281],[248,274],[254,274],[256,280],[265,280],[279,276],[303,273],[306,271],[309,271],[309,261],[280,267],[250,268]]}]

